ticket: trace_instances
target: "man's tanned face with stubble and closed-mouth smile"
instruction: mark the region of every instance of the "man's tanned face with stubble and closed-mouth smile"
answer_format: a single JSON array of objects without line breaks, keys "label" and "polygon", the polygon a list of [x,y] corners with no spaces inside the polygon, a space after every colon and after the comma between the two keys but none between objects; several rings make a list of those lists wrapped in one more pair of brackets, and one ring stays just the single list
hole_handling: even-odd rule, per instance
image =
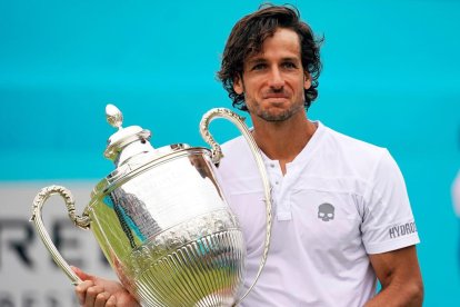
[{"label": "man's tanned face with stubble and closed-mouth smile", "polygon": [[233,89],[244,93],[252,117],[283,121],[303,111],[303,90],[310,86],[311,78],[301,62],[298,34],[280,28],[266,39],[260,53],[246,59],[242,78],[234,80]]}]

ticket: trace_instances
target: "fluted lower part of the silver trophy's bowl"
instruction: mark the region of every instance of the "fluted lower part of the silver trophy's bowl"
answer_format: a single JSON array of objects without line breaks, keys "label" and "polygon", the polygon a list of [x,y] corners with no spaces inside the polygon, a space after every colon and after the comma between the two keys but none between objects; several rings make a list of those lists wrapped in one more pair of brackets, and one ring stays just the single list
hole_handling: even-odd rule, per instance
[{"label": "fluted lower part of the silver trophy's bowl", "polygon": [[231,306],[243,280],[244,258],[242,232],[224,230],[143,266],[129,284],[143,306]]}]

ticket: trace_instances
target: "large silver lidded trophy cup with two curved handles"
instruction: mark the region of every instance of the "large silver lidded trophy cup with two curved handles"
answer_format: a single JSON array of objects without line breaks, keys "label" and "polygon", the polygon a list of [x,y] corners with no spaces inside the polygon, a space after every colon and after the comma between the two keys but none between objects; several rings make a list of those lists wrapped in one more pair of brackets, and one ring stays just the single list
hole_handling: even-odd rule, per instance
[{"label": "large silver lidded trophy cup with two curved handles", "polygon": [[[106,113],[109,123],[118,128],[104,151],[116,170],[94,187],[82,215],[76,214],[72,195],[64,187],[46,187],[33,200],[31,220],[54,261],[73,285],[81,283],[43,226],[42,206],[57,194],[64,199],[74,225],[92,230],[120,281],[141,305],[237,305],[263,269],[271,229],[268,176],[243,118],[228,109],[208,111],[200,132],[211,150],[186,143],[154,149],[149,130],[139,126],[122,128],[122,115],[112,105],[107,106]],[[228,119],[239,128],[264,187],[264,251],[257,277],[242,295],[246,245],[216,176],[222,152],[208,129],[214,118]]]}]

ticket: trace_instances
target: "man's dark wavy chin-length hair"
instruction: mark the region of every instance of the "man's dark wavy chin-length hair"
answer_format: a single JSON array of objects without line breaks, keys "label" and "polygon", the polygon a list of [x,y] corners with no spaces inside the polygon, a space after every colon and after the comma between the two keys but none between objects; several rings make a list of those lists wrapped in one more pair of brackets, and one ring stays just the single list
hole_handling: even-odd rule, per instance
[{"label": "man's dark wavy chin-length hair", "polygon": [[323,38],[314,37],[311,28],[300,20],[297,8],[264,4],[234,24],[223,50],[221,68],[217,76],[233,101],[233,107],[248,110],[244,93],[238,95],[233,89],[233,82],[237,78],[242,78],[244,60],[259,53],[263,41],[273,37],[279,28],[293,30],[300,39],[302,67],[311,76],[311,87],[304,90],[306,109],[318,97],[318,78],[321,72],[320,44]]}]

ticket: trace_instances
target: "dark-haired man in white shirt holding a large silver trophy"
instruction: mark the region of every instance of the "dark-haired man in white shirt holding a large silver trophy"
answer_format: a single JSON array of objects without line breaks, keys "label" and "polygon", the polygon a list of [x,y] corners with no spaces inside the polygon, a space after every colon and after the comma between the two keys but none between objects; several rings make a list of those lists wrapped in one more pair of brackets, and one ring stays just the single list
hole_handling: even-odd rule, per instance
[{"label": "dark-haired man in white shirt holding a large silver trophy", "polygon": [[[419,238],[403,178],[386,149],[307,118],[320,68],[319,42],[287,7],[244,17],[228,39],[219,78],[251,116],[274,210],[266,268],[241,305],[421,306]],[[243,139],[222,148],[219,174],[244,232],[249,287],[264,238],[262,189]],[[81,304],[136,303],[119,284],[77,273],[88,279],[76,288]]]}]

